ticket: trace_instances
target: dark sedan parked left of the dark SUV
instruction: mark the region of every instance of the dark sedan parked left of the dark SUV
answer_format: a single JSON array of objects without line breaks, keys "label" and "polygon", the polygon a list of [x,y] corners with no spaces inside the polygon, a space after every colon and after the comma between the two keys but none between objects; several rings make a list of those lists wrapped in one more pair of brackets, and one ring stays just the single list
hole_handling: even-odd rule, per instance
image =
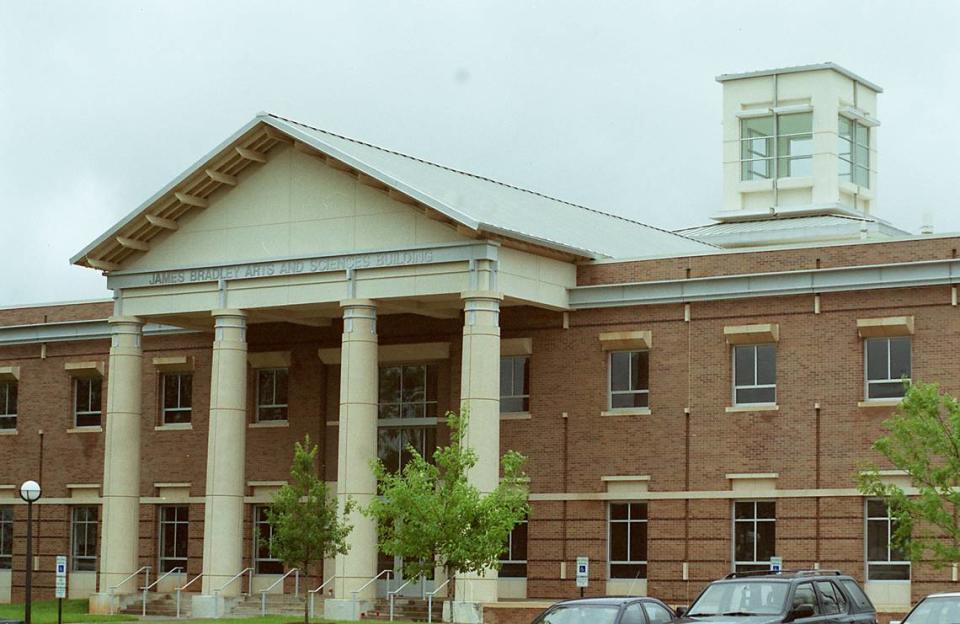
[{"label": "dark sedan parked left of the dark SUV", "polygon": [[558,602],[532,624],[669,624],[675,620],[673,611],[656,598],[609,597]]}]

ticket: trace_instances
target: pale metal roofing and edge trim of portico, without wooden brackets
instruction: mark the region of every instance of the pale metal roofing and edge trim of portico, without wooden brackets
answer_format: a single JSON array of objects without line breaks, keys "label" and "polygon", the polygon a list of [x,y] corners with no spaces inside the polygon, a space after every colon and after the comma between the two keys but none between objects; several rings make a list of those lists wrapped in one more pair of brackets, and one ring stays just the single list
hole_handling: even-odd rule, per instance
[{"label": "pale metal roofing and edge trim of portico, without wooden brackets", "polygon": [[129,231],[138,218],[145,219],[155,202],[159,204],[176,190],[177,184],[203,171],[211,161],[221,159],[229,145],[260,124],[269,125],[474,230],[592,259],[687,255],[717,249],[683,234],[261,113],[71,262],[89,265],[92,252],[100,245],[110,244],[123,228]]}]

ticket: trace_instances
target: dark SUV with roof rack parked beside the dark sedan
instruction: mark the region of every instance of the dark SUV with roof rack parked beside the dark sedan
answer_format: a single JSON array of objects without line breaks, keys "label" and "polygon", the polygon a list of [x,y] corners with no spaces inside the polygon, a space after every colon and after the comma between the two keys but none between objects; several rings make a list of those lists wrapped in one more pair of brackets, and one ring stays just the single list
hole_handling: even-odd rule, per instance
[{"label": "dark SUV with roof rack parked beside the dark sedan", "polygon": [[684,613],[689,624],[877,624],[860,585],[839,571],[729,574],[714,581]]}]

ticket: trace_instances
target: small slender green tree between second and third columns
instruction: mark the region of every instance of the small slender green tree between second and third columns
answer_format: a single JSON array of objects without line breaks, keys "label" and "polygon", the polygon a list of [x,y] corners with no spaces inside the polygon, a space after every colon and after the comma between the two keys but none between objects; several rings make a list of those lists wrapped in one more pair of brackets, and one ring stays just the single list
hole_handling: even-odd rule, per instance
[{"label": "small slender green tree between second and third columns", "polygon": [[[277,490],[267,510],[273,529],[271,552],[304,575],[325,557],[347,554],[347,536],[353,529],[346,515],[354,503],[348,500],[342,514],[338,510],[336,498],[317,474],[317,451],[309,435],[294,445],[290,481]],[[310,622],[308,603],[303,607],[303,621]]]}]

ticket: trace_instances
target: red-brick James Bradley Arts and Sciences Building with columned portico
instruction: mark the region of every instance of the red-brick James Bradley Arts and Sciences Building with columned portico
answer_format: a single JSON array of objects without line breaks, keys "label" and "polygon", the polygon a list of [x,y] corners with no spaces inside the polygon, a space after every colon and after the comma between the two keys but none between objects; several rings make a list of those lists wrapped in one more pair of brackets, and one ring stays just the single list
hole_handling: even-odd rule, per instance
[{"label": "red-brick James Bradley Arts and Sciences Building with columned portico", "polygon": [[[871,215],[876,85],[719,80],[723,210],[678,233],[254,118],[73,258],[113,301],[0,310],[0,600],[22,597],[26,479],[40,595],[67,554],[95,609],[150,566],[158,589],[202,575],[194,613],[217,614],[239,572],[283,571],[262,507],[295,441],[363,502],[370,460],[429,452],[461,404],[475,483],[514,449],[532,492],[499,578],[462,581],[474,601],[574,595],[578,556],[589,594],[676,604],[772,556],[886,611],[950,586],[901,560],[855,477],[903,377],[960,390],[960,238]],[[307,581],[346,617],[399,568],[353,522]]]}]

